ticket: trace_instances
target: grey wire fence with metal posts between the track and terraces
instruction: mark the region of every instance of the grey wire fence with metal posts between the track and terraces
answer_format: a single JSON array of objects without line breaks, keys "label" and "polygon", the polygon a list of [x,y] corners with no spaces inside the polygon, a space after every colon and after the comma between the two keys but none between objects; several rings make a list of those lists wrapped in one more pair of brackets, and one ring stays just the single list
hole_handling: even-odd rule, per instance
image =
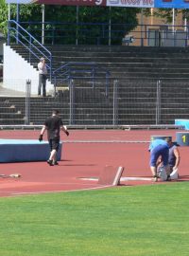
[{"label": "grey wire fence with metal posts between the track and terraces", "polygon": [[0,106],[1,124],[40,125],[56,108],[65,124],[76,127],[173,125],[175,119],[189,119],[189,82],[111,81],[107,95],[100,81],[95,86],[71,81],[57,97],[4,93]]}]

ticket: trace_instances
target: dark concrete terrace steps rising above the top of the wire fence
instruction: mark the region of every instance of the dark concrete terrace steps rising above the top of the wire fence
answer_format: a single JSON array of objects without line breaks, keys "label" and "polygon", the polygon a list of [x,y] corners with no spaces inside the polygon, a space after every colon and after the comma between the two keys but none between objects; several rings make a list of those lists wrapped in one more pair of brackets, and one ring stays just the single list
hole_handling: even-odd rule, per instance
[{"label": "dark concrete terrace steps rising above the top of the wire fence", "polygon": [[[29,62],[27,50],[20,45],[11,46]],[[189,49],[184,47],[137,46],[46,46],[52,53],[53,71],[61,64],[93,62],[107,68],[112,79],[171,80],[189,79]],[[37,68],[38,60],[30,63]]]}]

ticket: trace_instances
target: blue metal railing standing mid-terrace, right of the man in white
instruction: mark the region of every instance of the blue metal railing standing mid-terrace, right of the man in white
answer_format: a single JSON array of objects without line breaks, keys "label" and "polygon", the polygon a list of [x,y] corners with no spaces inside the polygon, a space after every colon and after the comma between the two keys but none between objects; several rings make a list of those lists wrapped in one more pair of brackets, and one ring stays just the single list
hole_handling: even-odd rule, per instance
[{"label": "blue metal railing standing mid-terrace, right of the man in white", "polygon": [[55,90],[58,83],[67,82],[70,84],[71,80],[87,80],[92,82],[94,88],[95,81],[99,78],[99,74],[105,75],[106,96],[108,96],[111,73],[109,70],[100,67],[99,64],[96,63],[70,62],[62,64],[59,68],[53,71]]}]

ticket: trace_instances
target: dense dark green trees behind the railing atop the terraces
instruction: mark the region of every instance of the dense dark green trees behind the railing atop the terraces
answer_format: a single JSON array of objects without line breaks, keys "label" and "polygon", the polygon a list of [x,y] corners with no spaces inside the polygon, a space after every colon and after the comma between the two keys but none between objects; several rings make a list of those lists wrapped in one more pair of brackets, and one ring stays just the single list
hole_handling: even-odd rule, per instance
[{"label": "dense dark green trees behind the railing atop the terraces", "polygon": [[[8,5],[0,0],[0,29],[4,34],[8,29]],[[20,5],[21,25],[41,41],[42,6]],[[108,45],[109,24],[112,23],[112,44],[121,44],[123,36],[137,26],[136,14],[140,9],[109,7],[45,6],[45,43],[75,44],[76,35],[80,44]],[[10,5],[10,19],[16,20],[17,6]],[[28,22],[32,24],[28,25]],[[35,23],[37,22],[37,23]],[[35,23],[35,24],[34,24]],[[64,25],[60,25],[64,23]],[[65,25],[66,23],[66,25]],[[86,25],[86,23],[96,25]],[[99,24],[104,24],[99,25]],[[98,24],[98,25],[97,25]],[[115,25],[116,24],[116,25]],[[96,42],[98,40],[99,42]]]}]

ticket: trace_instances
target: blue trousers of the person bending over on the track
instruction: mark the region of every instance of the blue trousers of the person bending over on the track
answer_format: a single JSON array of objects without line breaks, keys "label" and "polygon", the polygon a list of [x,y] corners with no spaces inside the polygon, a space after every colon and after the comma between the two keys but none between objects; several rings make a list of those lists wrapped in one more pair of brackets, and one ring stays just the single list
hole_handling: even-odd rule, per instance
[{"label": "blue trousers of the person bending over on the track", "polygon": [[162,156],[163,166],[168,164],[169,149],[166,145],[158,145],[151,151],[150,166],[155,167],[157,160]]}]

